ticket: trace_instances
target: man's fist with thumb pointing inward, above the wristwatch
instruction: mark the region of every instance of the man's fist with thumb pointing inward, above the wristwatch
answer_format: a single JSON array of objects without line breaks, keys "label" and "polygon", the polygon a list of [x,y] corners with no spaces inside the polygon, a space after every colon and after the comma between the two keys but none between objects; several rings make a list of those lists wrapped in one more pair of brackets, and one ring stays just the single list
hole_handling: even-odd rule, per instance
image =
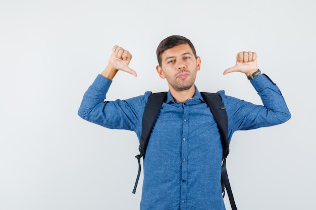
[{"label": "man's fist with thumb pointing inward, above the wristwatch", "polygon": [[231,72],[245,73],[246,76],[250,76],[258,69],[257,67],[257,54],[255,52],[238,52],[236,56],[236,65],[227,68],[224,71],[224,75]]}]

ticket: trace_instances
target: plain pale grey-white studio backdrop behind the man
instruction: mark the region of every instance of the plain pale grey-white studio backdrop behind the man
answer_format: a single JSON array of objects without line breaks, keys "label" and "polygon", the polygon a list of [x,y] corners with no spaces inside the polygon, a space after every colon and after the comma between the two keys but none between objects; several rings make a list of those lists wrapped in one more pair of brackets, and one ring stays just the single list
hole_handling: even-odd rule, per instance
[{"label": "plain pale grey-white studio backdrop behind the man", "polygon": [[[237,131],[227,167],[239,209],[316,209],[316,3],[302,1],[0,2],[0,209],[139,209],[138,139],[77,115],[114,45],[138,77],[119,72],[109,100],[167,91],[155,50],[183,35],[201,57],[200,91],[261,104],[236,53],[254,51],[292,118]],[[225,197],[227,209],[230,209]]]}]

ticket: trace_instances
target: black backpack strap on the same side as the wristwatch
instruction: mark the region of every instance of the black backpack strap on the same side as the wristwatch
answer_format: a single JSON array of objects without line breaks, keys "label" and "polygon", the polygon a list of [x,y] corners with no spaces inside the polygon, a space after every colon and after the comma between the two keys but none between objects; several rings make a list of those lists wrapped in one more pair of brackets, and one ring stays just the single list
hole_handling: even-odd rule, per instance
[{"label": "black backpack strap on the same side as the wristwatch", "polygon": [[228,139],[228,118],[226,108],[222,102],[222,98],[217,93],[206,93],[201,92],[203,99],[209,106],[212,112],[217,126],[221,133],[222,147],[223,147],[223,163],[222,163],[222,192],[223,197],[225,196],[225,187],[229,197],[229,201],[233,210],[237,210],[236,203],[234,200],[233,192],[229,183],[227,169],[226,169],[226,158],[229,154],[229,139]]}]

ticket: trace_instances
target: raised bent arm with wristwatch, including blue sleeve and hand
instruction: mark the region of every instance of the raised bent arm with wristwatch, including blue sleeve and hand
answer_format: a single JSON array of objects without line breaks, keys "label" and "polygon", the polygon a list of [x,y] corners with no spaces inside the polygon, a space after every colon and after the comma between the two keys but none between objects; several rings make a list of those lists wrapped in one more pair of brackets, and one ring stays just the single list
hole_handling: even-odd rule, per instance
[{"label": "raised bent arm with wristwatch, including blue sleeve and hand", "polygon": [[[250,76],[258,70],[257,55],[254,52],[239,52],[236,64],[227,68],[224,75],[232,72],[241,72]],[[248,130],[258,127],[267,127],[286,122],[291,118],[289,109],[278,86],[266,75],[260,75],[250,81],[260,96],[262,105],[255,105],[244,100],[222,96],[232,134],[235,130]]]}]

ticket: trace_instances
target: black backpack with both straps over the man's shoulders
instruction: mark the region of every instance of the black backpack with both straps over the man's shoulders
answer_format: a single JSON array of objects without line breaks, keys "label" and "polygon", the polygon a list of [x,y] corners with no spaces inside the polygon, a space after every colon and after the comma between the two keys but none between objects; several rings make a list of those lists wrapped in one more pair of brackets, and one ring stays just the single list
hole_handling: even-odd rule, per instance
[{"label": "black backpack with both straps over the man's shoulders", "polygon": [[[207,105],[209,106],[210,111],[212,112],[215,121],[217,122],[217,126],[221,133],[221,141],[223,146],[223,159],[222,159],[222,178],[221,178],[221,185],[222,185],[222,193],[223,197],[225,196],[225,188],[229,197],[229,201],[232,207],[232,210],[237,210],[232,189],[229,183],[227,169],[226,169],[226,158],[229,154],[229,140],[228,140],[228,119],[226,108],[222,103],[222,98],[217,93],[207,93],[201,92],[201,95]],[[153,125],[156,121],[156,116],[160,112],[160,108],[163,102],[166,100],[167,92],[160,92],[160,93],[152,93],[148,101],[146,103],[143,118],[142,118],[142,132],[140,137],[140,144],[139,144],[139,152],[140,154],[135,156],[138,160],[138,174],[135,182],[135,186],[133,189],[133,193],[136,193],[136,187],[138,184],[141,166],[140,166],[140,159],[145,158],[146,148],[148,145],[148,140],[150,137],[151,130]]]}]

